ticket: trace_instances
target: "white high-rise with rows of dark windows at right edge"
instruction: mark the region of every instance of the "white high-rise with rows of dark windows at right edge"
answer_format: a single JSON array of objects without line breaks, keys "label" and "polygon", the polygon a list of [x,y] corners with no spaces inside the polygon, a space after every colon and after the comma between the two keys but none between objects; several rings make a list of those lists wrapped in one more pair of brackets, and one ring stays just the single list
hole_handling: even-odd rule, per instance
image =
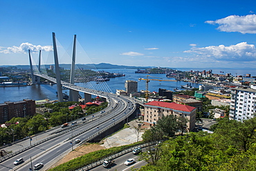
[{"label": "white high-rise with rows of dark windows at right edge", "polygon": [[243,121],[254,117],[256,112],[256,90],[235,88],[231,91],[230,119]]}]

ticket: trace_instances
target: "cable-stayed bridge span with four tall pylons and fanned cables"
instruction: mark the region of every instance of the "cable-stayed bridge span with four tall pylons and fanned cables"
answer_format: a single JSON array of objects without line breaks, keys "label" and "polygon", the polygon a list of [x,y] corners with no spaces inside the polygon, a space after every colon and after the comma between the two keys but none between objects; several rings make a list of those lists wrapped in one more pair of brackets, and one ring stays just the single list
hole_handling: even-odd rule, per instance
[{"label": "cable-stayed bridge span with four tall pylons and fanned cables", "polygon": [[[39,52],[39,64],[33,65],[30,56],[30,50],[28,50],[30,59],[30,72],[32,83],[39,83],[40,78],[47,79],[53,83],[57,83],[57,95],[58,101],[63,101],[62,87],[69,89],[69,101],[78,101],[79,92],[84,92],[84,102],[91,101],[91,95],[99,96],[103,98],[103,101],[107,98],[107,92],[111,93],[111,89],[104,81],[102,74],[93,66],[93,64],[86,65],[86,68],[78,68],[75,65],[75,52],[76,51],[76,35],[73,41],[73,55],[71,60],[70,70],[66,70],[63,74],[60,72],[60,66],[58,61],[57,46],[55,41],[55,33],[53,33],[53,52],[55,68],[54,70],[48,70],[41,65],[41,51]],[[70,73],[68,73],[70,71]],[[68,78],[62,80],[62,76],[68,75]],[[75,82],[78,82],[75,85]],[[79,85],[79,86],[78,86]],[[105,93],[104,93],[105,92]]]}]

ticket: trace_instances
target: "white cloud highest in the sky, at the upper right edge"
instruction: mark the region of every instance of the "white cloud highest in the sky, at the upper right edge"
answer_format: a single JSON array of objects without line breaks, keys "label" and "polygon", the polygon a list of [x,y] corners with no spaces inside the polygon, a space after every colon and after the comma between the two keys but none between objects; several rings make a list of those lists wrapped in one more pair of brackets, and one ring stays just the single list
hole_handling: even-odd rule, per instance
[{"label": "white cloud highest in the sky, at the upper right edge", "polygon": [[217,28],[221,32],[241,32],[242,34],[256,34],[256,15],[246,16],[230,15],[216,21],[205,21],[205,23],[219,24]]}]

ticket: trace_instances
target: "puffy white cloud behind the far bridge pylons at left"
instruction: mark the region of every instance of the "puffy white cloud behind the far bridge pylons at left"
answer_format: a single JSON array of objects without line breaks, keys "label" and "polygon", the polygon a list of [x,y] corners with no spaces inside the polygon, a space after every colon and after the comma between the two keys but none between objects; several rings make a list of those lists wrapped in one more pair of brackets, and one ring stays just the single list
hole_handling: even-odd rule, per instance
[{"label": "puffy white cloud behind the far bridge pylons at left", "polygon": [[53,46],[41,46],[41,45],[33,45],[31,43],[21,43],[20,46],[12,46],[8,48],[3,48],[0,52],[5,54],[10,53],[27,53],[28,50],[30,52],[38,52],[39,50],[50,52],[53,51]]}]

